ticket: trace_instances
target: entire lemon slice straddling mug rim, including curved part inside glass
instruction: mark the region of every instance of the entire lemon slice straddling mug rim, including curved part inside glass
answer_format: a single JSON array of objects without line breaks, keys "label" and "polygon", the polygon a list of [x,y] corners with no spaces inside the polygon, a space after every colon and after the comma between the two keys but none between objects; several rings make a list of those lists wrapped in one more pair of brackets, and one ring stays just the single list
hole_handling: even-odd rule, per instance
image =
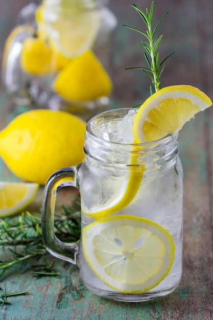
[{"label": "entire lemon slice straddling mug rim, including curved part inside glass", "polygon": [[[134,143],[153,142],[169,133],[179,131],[184,123],[210,106],[210,99],[199,89],[189,85],[177,85],[160,89],[149,97],[136,113],[133,123]],[[133,147],[136,150],[137,146]],[[117,188],[111,199],[99,208],[83,210],[95,219],[110,216],[125,208],[136,196],[146,170],[146,164],[137,169],[131,158],[132,170]],[[139,166],[138,166],[139,167]]]}]

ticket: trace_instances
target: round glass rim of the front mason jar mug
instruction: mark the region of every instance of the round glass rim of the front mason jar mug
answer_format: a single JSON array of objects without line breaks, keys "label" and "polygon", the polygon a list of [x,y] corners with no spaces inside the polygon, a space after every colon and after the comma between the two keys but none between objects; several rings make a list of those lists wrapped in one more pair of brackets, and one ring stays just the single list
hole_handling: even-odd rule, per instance
[{"label": "round glass rim of the front mason jar mug", "polygon": [[[108,118],[110,119],[110,116],[112,116],[115,112],[117,112],[117,118],[119,119],[119,113],[121,114],[120,119],[122,117],[124,117],[125,115],[127,115],[128,111],[132,110],[132,108],[118,108],[118,109],[112,109],[112,110],[108,110],[108,111],[104,111],[99,113],[98,115],[92,117],[86,125],[86,133],[88,133],[93,139],[95,139],[96,141],[102,141],[103,143],[109,144],[111,146],[124,146],[124,147],[133,147],[133,146],[138,146],[138,147],[143,147],[143,150],[146,149],[152,149],[152,148],[159,148],[159,146],[162,146],[164,144],[169,143],[170,141],[176,141],[178,138],[178,132],[177,133],[169,133],[165,136],[163,136],[163,138],[156,140],[156,141],[152,141],[152,142],[144,142],[144,143],[120,143],[120,142],[113,142],[113,141],[108,141],[105,140],[99,136],[97,136],[96,134],[94,134],[94,132],[91,129],[91,124],[92,122],[96,122],[98,119],[104,119],[104,118]],[[113,117],[111,117],[111,120],[113,119]],[[103,121],[104,123],[105,121]],[[86,134],[85,134],[86,135]]]}]

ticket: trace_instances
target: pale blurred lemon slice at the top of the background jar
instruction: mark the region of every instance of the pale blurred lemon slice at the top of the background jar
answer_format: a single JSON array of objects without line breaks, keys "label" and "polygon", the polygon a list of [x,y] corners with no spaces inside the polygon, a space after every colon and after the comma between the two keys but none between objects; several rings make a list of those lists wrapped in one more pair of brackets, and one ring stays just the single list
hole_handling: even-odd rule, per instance
[{"label": "pale blurred lemon slice at the top of the background jar", "polygon": [[38,32],[63,56],[74,58],[96,41],[101,16],[94,7],[93,0],[43,0],[36,11]]}]

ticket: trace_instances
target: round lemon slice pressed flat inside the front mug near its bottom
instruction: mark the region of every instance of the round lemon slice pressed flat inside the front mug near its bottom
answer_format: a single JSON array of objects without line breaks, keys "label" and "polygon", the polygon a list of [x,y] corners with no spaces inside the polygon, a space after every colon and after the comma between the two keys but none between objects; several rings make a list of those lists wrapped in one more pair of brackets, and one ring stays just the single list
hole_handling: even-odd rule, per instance
[{"label": "round lemon slice pressed flat inside the front mug near its bottom", "polygon": [[175,246],[159,224],[129,215],[93,222],[82,231],[87,264],[110,288],[143,293],[156,287],[170,272]]}]

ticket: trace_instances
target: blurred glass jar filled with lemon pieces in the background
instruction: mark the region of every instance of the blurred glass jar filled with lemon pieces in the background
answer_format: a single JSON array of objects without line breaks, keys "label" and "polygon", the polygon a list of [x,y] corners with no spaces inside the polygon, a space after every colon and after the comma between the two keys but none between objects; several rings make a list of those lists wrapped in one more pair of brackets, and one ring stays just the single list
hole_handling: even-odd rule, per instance
[{"label": "blurred glass jar filled with lemon pieces in the background", "polygon": [[16,103],[86,120],[109,108],[116,17],[106,0],[33,1],[4,50],[2,79]]}]

